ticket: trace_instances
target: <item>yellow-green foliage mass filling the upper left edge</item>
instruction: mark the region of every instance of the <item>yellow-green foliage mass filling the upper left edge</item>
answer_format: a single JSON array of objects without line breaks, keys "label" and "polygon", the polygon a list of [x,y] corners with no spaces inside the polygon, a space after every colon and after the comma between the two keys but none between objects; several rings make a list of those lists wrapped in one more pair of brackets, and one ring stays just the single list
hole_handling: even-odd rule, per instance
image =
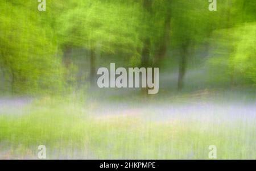
[{"label": "yellow-green foliage mass filling the upper left edge", "polygon": [[42,27],[36,12],[11,2],[1,2],[0,11],[0,65],[5,86],[19,94],[59,91],[63,67],[51,27]]}]

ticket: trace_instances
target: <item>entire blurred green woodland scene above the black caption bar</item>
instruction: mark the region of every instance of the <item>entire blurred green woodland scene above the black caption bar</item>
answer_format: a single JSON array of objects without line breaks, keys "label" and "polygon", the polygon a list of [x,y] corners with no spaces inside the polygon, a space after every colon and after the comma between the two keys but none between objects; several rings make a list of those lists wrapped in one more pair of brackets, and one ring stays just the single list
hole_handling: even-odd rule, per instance
[{"label": "entire blurred green woodland scene above the black caption bar", "polygon": [[[255,159],[256,1],[209,4],[1,0],[0,159]],[[98,88],[110,62],[159,93]]]}]

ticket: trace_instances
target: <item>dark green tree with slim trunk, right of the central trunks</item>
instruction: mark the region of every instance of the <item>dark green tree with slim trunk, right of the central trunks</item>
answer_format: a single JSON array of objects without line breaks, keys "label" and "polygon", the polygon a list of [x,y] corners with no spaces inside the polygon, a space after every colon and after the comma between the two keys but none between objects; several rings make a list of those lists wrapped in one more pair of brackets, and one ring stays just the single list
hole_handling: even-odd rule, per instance
[{"label": "dark green tree with slim trunk, right of the central trunks", "polygon": [[[171,48],[179,50],[178,90],[184,85],[184,77],[189,61],[189,48],[207,44],[210,33],[216,27],[218,15],[208,10],[208,1],[174,1],[171,11]],[[220,6],[220,5],[218,5]],[[215,11],[214,11],[215,12]]]}]

